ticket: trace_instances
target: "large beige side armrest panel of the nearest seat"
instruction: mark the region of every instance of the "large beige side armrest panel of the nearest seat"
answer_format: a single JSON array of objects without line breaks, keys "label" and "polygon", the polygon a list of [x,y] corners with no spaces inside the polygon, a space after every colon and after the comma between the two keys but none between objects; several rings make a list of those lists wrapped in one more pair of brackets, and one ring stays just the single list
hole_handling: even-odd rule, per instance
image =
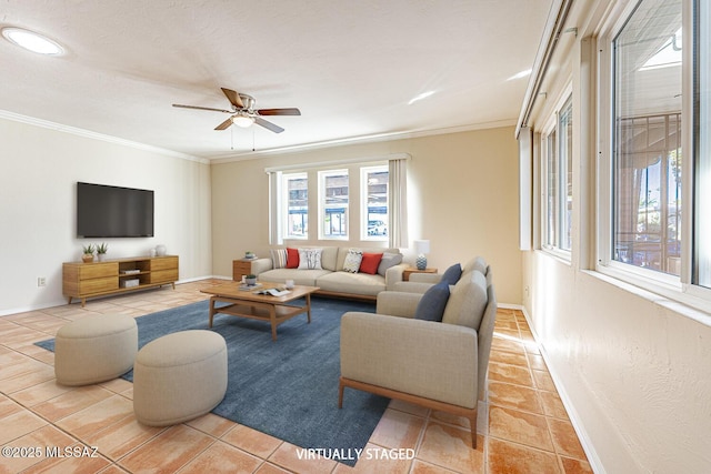
[{"label": "large beige side armrest panel of the nearest seat", "polygon": [[341,319],[341,376],[443,403],[477,406],[471,327],[349,312]]}]

